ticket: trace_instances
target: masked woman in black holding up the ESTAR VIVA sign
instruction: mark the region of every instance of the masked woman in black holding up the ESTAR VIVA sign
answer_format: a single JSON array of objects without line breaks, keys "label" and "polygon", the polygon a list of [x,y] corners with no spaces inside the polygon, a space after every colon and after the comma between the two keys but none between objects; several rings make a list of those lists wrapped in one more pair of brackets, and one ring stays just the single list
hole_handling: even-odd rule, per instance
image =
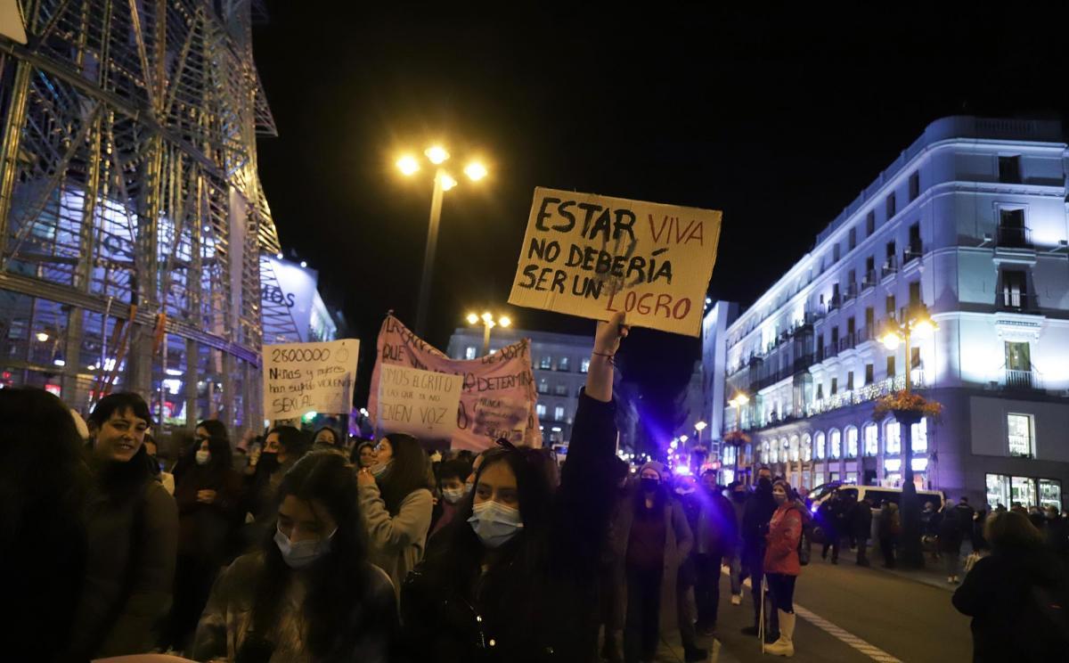
[{"label": "masked woman in black holding up the ESTAR VIVA sign", "polygon": [[616,493],[613,357],[623,314],[599,323],[554,492],[531,450],[483,457],[475,491],[401,592],[413,661],[582,661],[597,648],[593,582]]}]

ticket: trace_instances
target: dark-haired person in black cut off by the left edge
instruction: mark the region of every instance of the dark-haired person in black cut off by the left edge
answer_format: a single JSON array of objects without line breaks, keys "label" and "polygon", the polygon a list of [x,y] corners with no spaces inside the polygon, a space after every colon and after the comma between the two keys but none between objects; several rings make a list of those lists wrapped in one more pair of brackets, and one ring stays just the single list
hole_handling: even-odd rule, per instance
[{"label": "dark-haired person in black cut off by the left edge", "polygon": [[60,399],[0,389],[0,627],[10,661],[55,661],[66,647],[86,567],[82,438]]}]

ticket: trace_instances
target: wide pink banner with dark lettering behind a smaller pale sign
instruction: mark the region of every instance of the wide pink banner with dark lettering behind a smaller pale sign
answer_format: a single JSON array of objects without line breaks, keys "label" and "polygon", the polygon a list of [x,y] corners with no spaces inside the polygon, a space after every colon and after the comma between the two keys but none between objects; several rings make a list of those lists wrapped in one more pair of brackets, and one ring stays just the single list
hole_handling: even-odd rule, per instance
[{"label": "wide pink banner with dark lettering behind a smaller pale sign", "polygon": [[[453,416],[454,428],[449,435],[451,448],[482,451],[494,446],[498,437],[517,445],[542,445],[534,412],[538,391],[531,370],[530,343],[526,339],[478,359],[450,359],[397,318],[388,315],[378,332],[377,350],[368,402],[376,428],[389,431],[390,426],[396,425],[397,411],[387,412],[379,406],[379,400],[386,399],[381,391],[384,384],[400,379],[397,373],[388,374],[388,369],[406,367],[419,369],[420,373],[429,371],[460,377],[460,399]],[[396,404],[397,400],[389,402]],[[390,421],[384,415],[388,415]],[[418,412],[412,417],[417,418]],[[439,436],[436,430],[407,432],[428,440]]]}]

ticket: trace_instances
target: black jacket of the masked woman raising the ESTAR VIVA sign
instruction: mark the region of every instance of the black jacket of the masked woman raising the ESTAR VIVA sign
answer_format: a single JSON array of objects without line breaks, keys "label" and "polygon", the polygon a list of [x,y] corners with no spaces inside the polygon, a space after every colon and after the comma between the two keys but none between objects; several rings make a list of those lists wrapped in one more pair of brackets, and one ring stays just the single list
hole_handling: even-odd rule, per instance
[{"label": "black jacket of the masked woman raising the ESTAR VIVA sign", "polygon": [[428,551],[401,592],[412,660],[571,662],[595,650],[597,579],[617,494],[614,418],[613,403],[579,397],[548,527],[506,543],[476,587],[450,577],[448,550]]}]

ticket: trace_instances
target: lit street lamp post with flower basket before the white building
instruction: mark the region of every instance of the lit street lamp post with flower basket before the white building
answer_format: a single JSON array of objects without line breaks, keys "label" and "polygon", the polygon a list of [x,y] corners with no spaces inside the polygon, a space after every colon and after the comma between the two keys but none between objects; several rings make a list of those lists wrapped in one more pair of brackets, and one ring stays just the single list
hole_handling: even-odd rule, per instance
[{"label": "lit street lamp post with flower basket before the white building", "polygon": [[[901,323],[889,322],[880,339],[887,350],[895,351],[899,343],[905,345],[905,394],[910,392],[912,366],[912,336],[925,337],[931,335],[939,326],[932,321],[928,309],[920,305],[910,311],[907,320]],[[913,479],[913,425],[920,421],[920,413],[897,411],[895,419],[898,422],[898,440],[901,446],[902,463],[902,565],[911,568],[925,566],[924,553],[920,549],[920,500],[917,498],[917,487]]]}]

